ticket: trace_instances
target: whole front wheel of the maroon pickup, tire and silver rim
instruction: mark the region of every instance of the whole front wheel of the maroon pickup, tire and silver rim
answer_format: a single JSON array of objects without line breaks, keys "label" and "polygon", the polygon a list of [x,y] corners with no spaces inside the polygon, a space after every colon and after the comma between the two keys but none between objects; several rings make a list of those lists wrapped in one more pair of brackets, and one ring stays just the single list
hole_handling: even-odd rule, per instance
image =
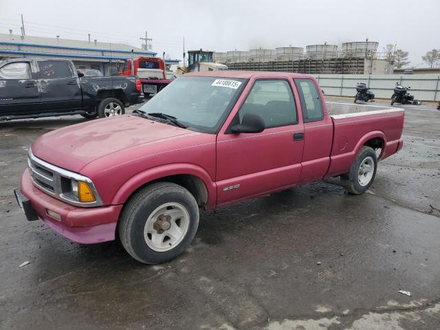
[{"label": "whole front wheel of the maroon pickup, tire and silver rim", "polygon": [[139,190],[124,206],[119,236],[126,252],[141,263],[175,259],[194,239],[199,208],[184,187],[170,182]]}]

